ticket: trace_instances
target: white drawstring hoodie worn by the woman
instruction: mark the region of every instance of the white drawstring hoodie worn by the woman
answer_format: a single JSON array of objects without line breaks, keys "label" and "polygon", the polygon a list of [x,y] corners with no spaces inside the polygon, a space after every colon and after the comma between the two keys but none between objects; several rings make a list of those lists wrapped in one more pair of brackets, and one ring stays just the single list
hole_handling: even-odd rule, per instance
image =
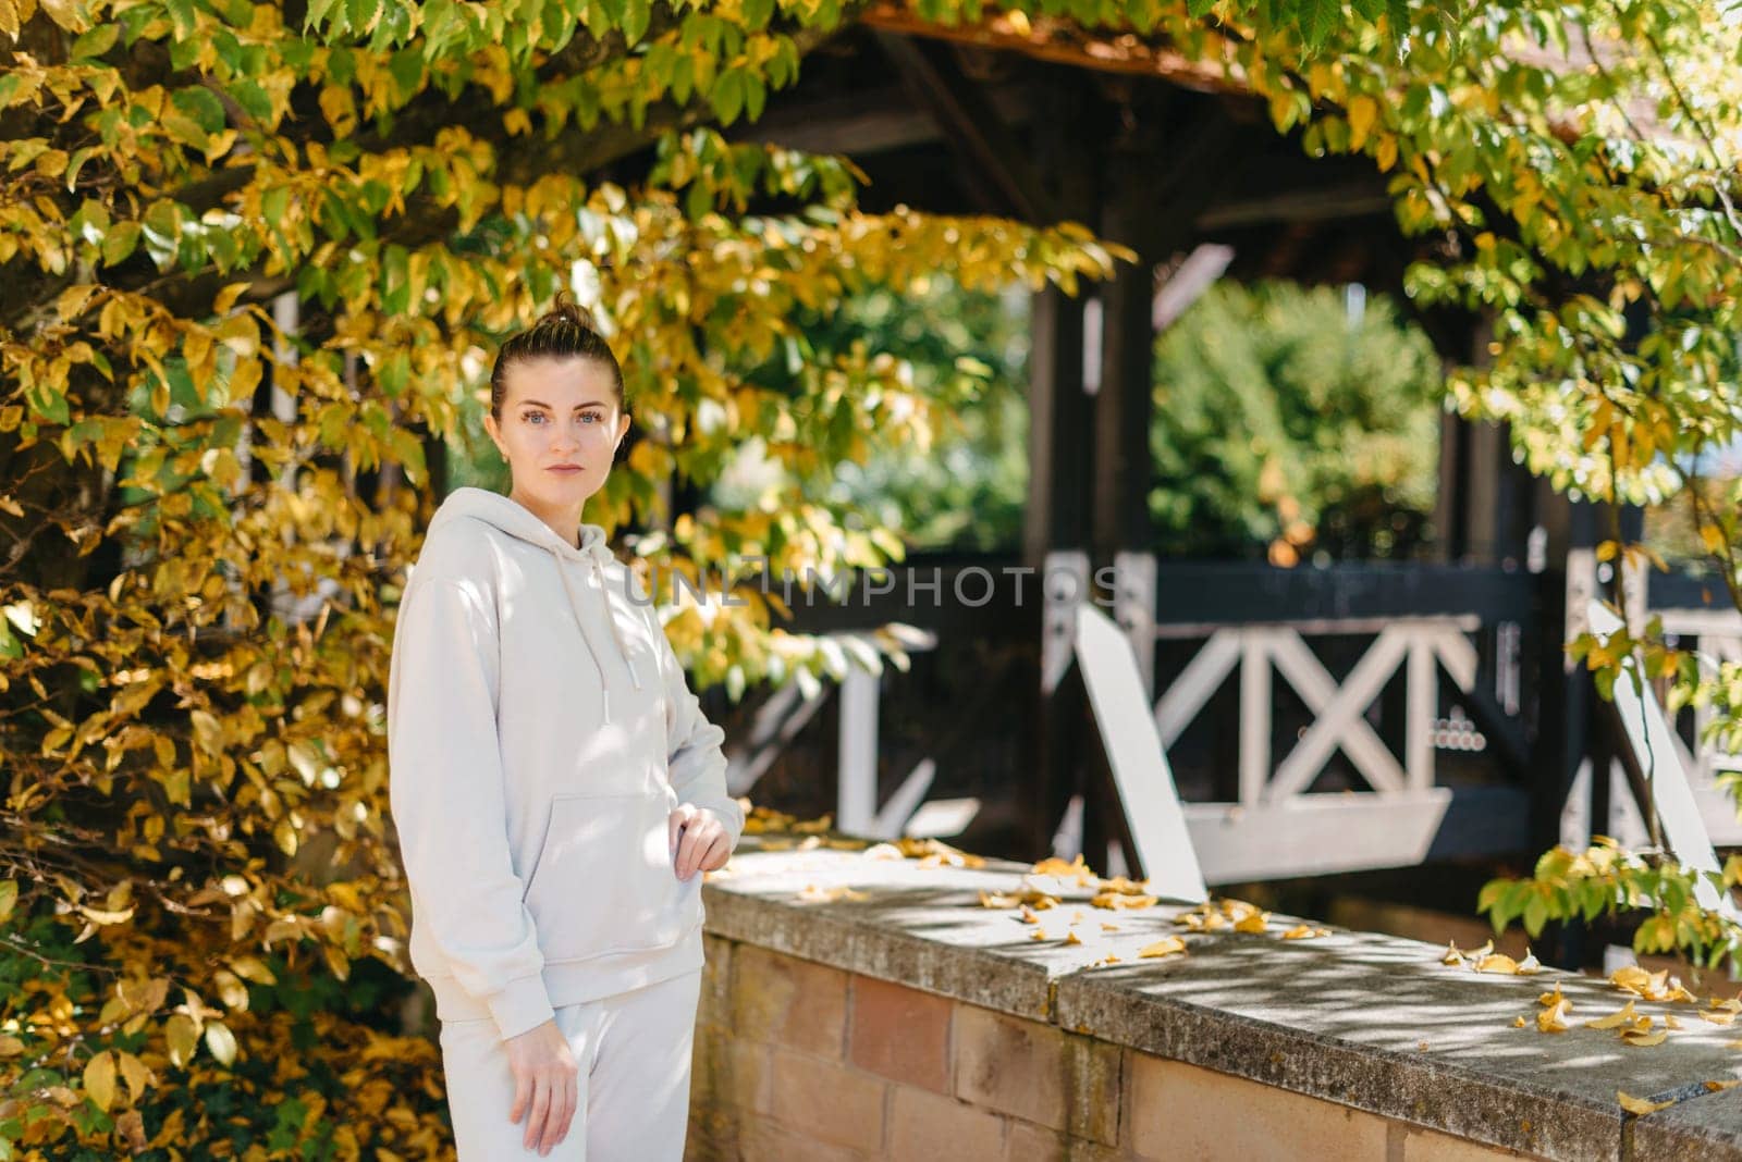
[{"label": "white drawstring hoodie worn by the woman", "polygon": [[599,525],[568,544],[519,501],[456,489],[394,630],[388,797],[411,964],[441,1019],[503,1038],[552,1007],[702,965],[702,875],[667,816],[709,807],[737,845],[725,734]]}]

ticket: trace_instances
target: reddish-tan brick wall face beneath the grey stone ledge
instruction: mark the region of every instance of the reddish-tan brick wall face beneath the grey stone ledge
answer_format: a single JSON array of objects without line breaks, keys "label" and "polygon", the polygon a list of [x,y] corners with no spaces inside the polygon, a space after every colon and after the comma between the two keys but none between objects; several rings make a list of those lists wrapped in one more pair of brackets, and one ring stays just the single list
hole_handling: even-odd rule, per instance
[{"label": "reddish-tan brick wall face beneath the grey stone ledge", "polygon": [[690,1162],[1517,1157],[707,936]]}]

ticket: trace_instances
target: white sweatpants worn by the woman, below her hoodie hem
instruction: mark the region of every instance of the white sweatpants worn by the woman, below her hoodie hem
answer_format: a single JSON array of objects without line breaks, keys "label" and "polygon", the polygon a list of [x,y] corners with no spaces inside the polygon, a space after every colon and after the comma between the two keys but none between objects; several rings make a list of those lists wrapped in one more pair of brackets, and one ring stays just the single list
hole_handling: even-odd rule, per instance
[{"label": "white sweatpants worn by the woman, below her hoodie hem", "polygon": [[442,1021],[441,1054],[460,1162],[681,1162],[690,1122],[690,1054],[702,971],[556,1011],[580,1066],[580,1108],[549,1155],[509,1120],[514,1073],[490,1018]]}]

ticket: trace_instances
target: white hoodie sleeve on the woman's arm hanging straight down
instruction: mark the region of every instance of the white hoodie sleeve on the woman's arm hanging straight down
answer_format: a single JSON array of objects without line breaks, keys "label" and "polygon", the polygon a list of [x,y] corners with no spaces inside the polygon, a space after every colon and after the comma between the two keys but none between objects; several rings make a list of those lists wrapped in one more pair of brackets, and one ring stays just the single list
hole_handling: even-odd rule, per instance
[{"label": "white hoodie sleeve on the woman's arm hanging straight down", "polygon": [[406,588],[387,699],[388,800],[418,918],[503,1038],[552,1018],[509,856],[495,614],[451,578]]}]

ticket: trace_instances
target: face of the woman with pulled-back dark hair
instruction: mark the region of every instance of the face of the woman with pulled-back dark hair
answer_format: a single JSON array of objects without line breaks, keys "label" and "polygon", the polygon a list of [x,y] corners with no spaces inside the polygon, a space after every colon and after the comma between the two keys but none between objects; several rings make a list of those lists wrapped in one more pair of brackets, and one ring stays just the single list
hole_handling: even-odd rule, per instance
[{"label": "face of the woman with pulled-back dark hair", "polygon": [[484,416],[514,492],[550,508],[580,506],[604,485],[629,431],[611,371],[596,358],[533,358],[503,372],[502,419]]}]

